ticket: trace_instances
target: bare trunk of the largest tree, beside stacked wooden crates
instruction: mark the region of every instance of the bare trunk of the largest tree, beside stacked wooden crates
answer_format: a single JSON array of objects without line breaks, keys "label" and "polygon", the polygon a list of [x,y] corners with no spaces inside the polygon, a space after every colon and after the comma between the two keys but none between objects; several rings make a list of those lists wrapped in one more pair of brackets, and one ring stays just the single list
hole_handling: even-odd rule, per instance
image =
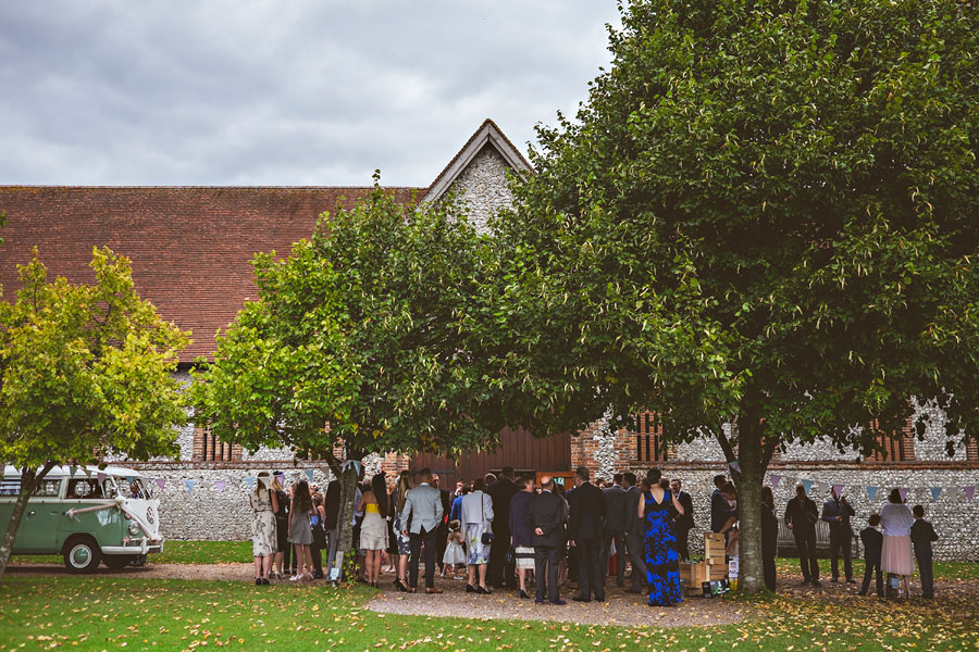
[{"label": "bare trunk of the largest tree, beside stacked wooden crates", "polygon": [[738,419],[739,584],[746,593],[765,590],[761,562],[761,484],[768,466],[761,446],[761,422],[752,415]]}]

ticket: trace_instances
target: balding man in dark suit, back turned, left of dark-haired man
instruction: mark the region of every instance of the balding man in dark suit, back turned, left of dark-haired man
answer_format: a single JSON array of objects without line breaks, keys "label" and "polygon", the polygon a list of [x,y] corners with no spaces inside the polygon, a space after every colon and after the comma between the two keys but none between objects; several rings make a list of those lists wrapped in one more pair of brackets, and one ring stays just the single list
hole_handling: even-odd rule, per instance
[{"label": "balding man in dark suit, back turned, left of dark-haired man", "polygon": [[536,603],[544,602],[544,578],[547,578],[547,598],[552,604],[565,604],[558,593],[558,564],[565,552],[565,521],[567,505],[560,496],[554,494],[554,478],[541,478],[541,493],[526,506],[524,519],[533,528],[534,576],[537,578]]}]

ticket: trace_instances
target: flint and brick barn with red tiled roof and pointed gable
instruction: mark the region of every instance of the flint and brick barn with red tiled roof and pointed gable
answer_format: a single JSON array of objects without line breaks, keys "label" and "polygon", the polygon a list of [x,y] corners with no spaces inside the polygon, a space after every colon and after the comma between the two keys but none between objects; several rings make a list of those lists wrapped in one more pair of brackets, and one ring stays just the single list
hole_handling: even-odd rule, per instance
[{"label": "flint and brick barn with red tiled roof and pointed gable", "polygon": [[[520,151],[487,120],[429,187],[388,189],[405,203],[438,201],[454,191],[479,223],[512,201],[508,175],[529,173]],[[9,297],[17,287],[16,265],[29,260],[35,246],[51,274],[90,280],[92,247],[110,247],[133,261],[140,296],[165,318],[194,331],[194,343],[183,352],[177,372],[189,381],[193,361],[213,352],[218,329],[234,319],[244,301],[257,297],[249,265],[253,254],[288,251],[294,241],[313,231],[319,214],[337,204],[350,205],[368,192],[368,187],[329,186],[0,186],[0,211],[7,211],[10,222],[0,249],[0,284]],[[902,437],[889,443],[887,455],[863,460],[828,443],[791,447],[777,455],[767,478],[774,486],[777,505],[784,505],[800,480],[813,484],[810,496],[819,503],[832,486],[842,486],[857,510],[856,525],[880,509],[890,488],[907,488],[908,501],[925,504],[933,518],[941,537],[935,555],[979,560],[976,444],[949,457],[941,411],[933,402],[912,401],[916,411],[933,415],[928,430],[919,440],[908,425]],[[505,429],[493,451],[458,460],[391,453],[371,460],[369,466],[392,473],[430,466],[441,474],[444,486],[450,486],[456,479],[471,479],[504,465],[554,473],[587,465],[598,477],[657,465],[668,477],[683,479],[702,529],[709,522],[710,479],[724,471],[720,447],[711,441],[664,446],[654,414],[635,415],[629,429],[619,431],[596,422],[581,432],[546,440],[519,428]],[[259,469],[308,472],[320,485],[327,479],[322,463],[296,460],[288,450],[245,451],[191,425],[182,429],[177,442],[176,460],[128,463],[165,480],[159,494],[164,530],[171,538],[247,538],[245,478]],[[697,539],[695,532],[691,541]]]}]

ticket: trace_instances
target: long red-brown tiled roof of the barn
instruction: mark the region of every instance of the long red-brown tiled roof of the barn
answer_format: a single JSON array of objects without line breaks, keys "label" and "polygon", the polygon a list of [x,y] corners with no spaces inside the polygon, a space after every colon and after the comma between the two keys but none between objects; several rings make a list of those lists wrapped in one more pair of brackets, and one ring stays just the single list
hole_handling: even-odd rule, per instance
[{"label": "long red-brown tiled roof of the barn", "polygon": [[[421,188],[389,188],[398,201],[416,201]],[[49,273],[74,283],[94,280],[92,247],[109,247],[133,261],[139,294],[184,330],[194,343],[182,362],[214,350],[257,291],[249,261],[256,252],[286,254],[308,238],[317,216],[344,198],[349,205],[370,188],[62,187],[0,186],[9,226],[0,237],[0,284],[5,300],[20,287],[16,265],[37,246]]]}]

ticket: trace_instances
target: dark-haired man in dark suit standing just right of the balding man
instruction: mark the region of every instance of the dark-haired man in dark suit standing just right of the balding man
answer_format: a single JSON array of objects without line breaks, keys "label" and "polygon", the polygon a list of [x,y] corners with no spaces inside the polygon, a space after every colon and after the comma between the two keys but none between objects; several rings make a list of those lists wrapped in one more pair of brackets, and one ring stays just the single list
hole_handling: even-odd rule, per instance
[{"label": "dark-haired man in dark suit standing just right of the balding man", "polygon": [[575,488],[569,496],[571,526],[568,538],[578,550],[578,585],[581,592],[572,598],[577,602],[591,602],[592,593],[597,602],[605,602],[605,582],[598,567],[598,544],[605,527],[605,494],[588,480],[587,466],[579,466],[574,474]]}]

